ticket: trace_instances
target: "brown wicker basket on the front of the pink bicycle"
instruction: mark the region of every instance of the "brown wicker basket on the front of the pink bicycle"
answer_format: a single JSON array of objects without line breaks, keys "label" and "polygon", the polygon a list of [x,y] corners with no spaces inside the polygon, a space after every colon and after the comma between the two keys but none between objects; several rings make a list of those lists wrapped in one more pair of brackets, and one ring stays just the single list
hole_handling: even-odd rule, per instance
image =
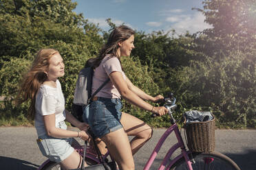
[{"label": "brown wicker basket on the front of the pink bicycle", "polygon": [[[185,120],[186,122],[186,120]],[[184,123],[187,145],[191,151],[211,152],[215,149],[215,117],[211,121]]]}]

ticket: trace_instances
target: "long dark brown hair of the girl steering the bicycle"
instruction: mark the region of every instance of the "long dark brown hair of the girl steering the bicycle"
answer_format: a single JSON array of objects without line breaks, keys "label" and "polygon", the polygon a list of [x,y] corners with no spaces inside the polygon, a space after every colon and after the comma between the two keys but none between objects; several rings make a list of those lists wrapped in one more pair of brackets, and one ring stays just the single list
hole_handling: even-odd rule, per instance
[{"label": "long dark brown hair of the girl steering the bicycle", "polygon": [[112,57],[117,57],[120,60],[120,56],[118,56],[117,53],[119,47],[118,42],[127,40],[128,38],[130,38],[130,36],[134,34],[134,30],[126,25],[120,25],[119,27],[116,27],[110,33],[107,43],[100,50],[99,56],[94,59],[94,67],[99,66],[101,60],[103,60],[103,58],[105,58],[107,54]]}]

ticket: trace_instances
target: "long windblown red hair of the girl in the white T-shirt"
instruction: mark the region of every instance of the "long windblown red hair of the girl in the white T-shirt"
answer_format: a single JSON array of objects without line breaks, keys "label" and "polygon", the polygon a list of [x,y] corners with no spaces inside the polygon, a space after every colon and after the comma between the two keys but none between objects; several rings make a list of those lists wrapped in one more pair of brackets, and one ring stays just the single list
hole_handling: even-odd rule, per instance
[{"label": "long windblown red hair of the girl in the white T-shirt", "polygon": [[17,104],[22,104],[25,101],[31,100],[30,108],[28,109],[28,118],[30,119],[34,119],[36,93],[41,84],[47,79],[45,71],[50,64],[50,58],[56,53],[58,53],[56,49],[41,49],[36,54],[30,71],[24,75],[21,82],[16,102]]}]

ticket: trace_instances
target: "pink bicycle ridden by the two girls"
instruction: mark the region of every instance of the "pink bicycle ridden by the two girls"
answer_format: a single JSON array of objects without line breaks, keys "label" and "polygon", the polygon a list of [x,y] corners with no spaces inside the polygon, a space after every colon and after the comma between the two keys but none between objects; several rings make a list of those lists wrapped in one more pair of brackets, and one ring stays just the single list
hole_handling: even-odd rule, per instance
[{"label": "pink bicycle ridden by the two girls", "polygon": [[[147,164],[144,167],[144,170],[150,169],[151,165],[153,164],[153,161],[155,160],[158,151],[162,147],[162,144],[167,139],[167,137],[174,132],[175,136],[177,138],[177,143],[170,147],[170,149],[167,151],[167,154],[164,156],[164,159],[161,162],[160,167],[158,170],[163,169],[171,169],[171,170],[240,170],[239,167],[235,164],[233,160],[225,156],[224,154],[221,154],[217,151],[210,152],[210,153],[204,153],[204,152],[193,152],[189,149],[186,149],[184,145],[184,141],[182,139],[182,136],[180,134],[180,130],[178,128],[178,125],[175,122],[175,119],[173,119],[173,110],[176,108],[175,104],[175,97],[167,97],[164,98],[164,106],[169,110],[169,116],[171,121],[171,127],[169,127],[164,134],[162,134],[162,137],[158,141],[155,149],[153,149],[153,152],[147,161]],[[81,154],[83,155],[84,147],[79,145],[77,142],[74,143],[73,147]],[[94,147],[97,147],[96,145]],[[175,158],[171,159],[171,155],[174,153],[175,150],[181,149],[181,154],[176,156]],[[88,165],[96,165],[102,162],[102,158],[107,162],[107,157],[109,156],[109,153],[103,155],[103,156],[97,156],[96,154],[92,154],[89,152],[89,147],[87,148],[87,154],[85,155],[85,160]],[[39,167],[39,169],[43,170],[50,170],[50,169],[61,169],[61,166],[58,165],[56,162],[51,162],[50,160],[46,160],[43,165]]]}]

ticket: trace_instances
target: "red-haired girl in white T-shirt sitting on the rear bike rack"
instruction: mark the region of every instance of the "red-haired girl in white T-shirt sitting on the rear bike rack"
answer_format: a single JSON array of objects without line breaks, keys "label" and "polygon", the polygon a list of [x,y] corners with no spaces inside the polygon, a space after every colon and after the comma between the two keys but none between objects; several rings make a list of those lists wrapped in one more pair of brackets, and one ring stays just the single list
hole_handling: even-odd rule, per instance
[{"label": "red-haired girl in white T-shirt sitting on the rear bike rack", "polygon": [[[65,110],[65,99],[58,77],[64,75],[64,63],[55,49],[41,49],[30,71],[23,78],[17,103],[31,100],[29,115],[35,120],[37,144],[43,156],[61,162],[65,169],[81,167],[82,157],[71,146],[72,137],[86,141],[87,124],[75,119]],[[67,130],[65,120],[81,131]],[[86,163],[85,163],[86,166]]]}]

